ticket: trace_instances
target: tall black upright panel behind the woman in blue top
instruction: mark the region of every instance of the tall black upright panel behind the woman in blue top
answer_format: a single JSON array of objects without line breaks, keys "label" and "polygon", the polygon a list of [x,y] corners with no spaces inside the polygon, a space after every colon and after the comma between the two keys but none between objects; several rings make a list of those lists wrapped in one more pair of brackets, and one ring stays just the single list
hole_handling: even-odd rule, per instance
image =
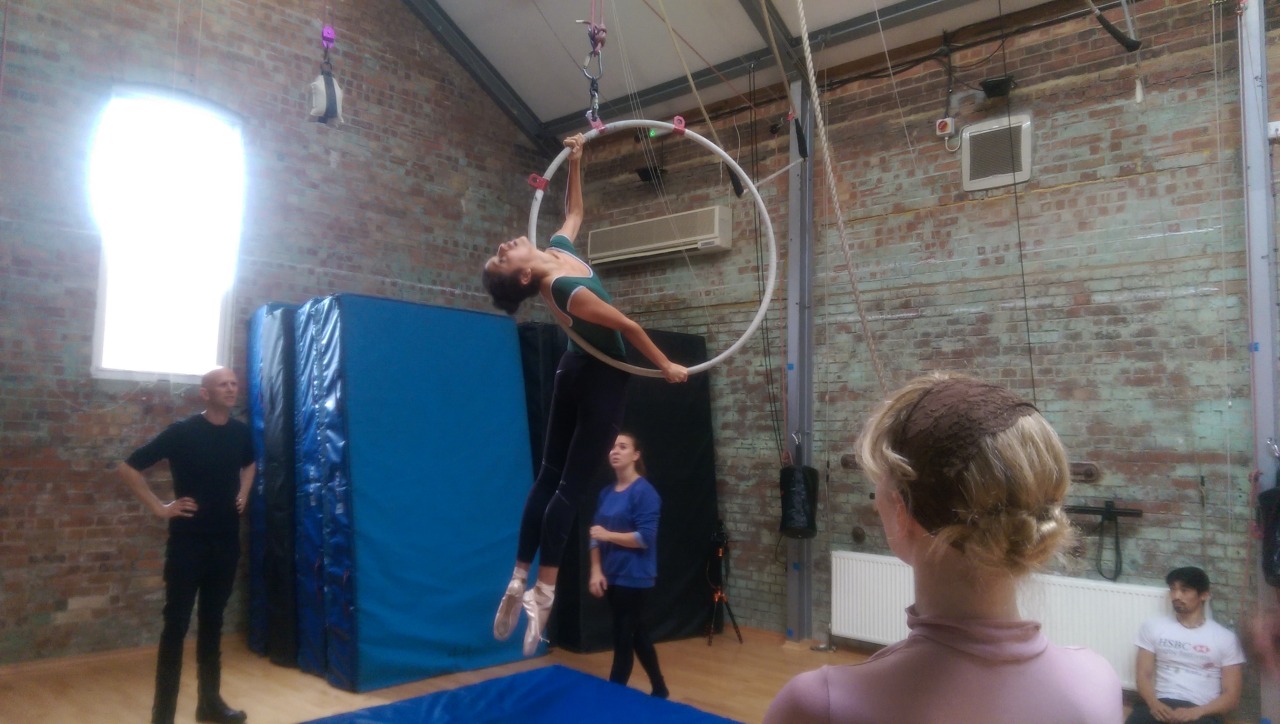
[{"label": "tall black upright panel behind the woman in blue top", "polygon": [[[707,343],[698,335],[648,331],[654,343],[680,365],[692,366],[707,359]],[[564,352],[567,336],[558,325],[530,322],[520,325],[520,344],[536,471],[541,462],[556,366]],[[627,350],[627,358],[636,366],[650,366],[634,349]],[[632,377],[627,386],[623,427],[644,445],[645,477],[662,496],[658,582],[649,599],[654,640],[703,636],[713,608],[709,577],[718,577],[718,571],[713,571],[718,568],[714,560],[718,514],[707,375],[694,375],[681,385],[653,377]],[[602,455],[591,492],[582,501],[573,523],[556,586],[549,633],[557,646],[571,651],[604,651],[613,645],[608,604],[588,590],[591,573],[588,528],[599,491],[611,482],[613,471]]]}]

